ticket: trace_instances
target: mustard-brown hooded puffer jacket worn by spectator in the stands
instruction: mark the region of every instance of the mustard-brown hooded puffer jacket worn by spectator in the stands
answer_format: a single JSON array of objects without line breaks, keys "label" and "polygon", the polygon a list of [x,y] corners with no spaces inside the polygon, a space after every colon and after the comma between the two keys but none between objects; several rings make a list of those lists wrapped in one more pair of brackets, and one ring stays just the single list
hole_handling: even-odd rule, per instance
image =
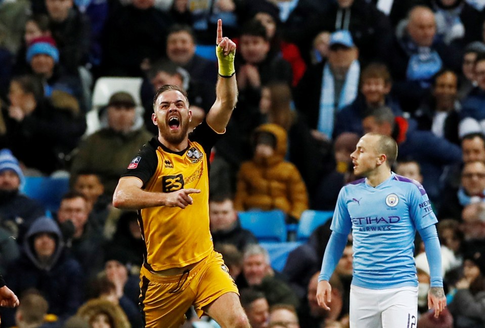
[{"label": "mustard-brown hooded puffer jacket worn by spectator in the stands", "polygon": [[298,169],[285,160],[286,131],[276,124],[263,124],[255,131],[256,134],[261,132],[275,137],[275,152],[269,158],[253,157],[242,163],[234,199],[235,209],[280,209],[299,219],[301,213],[308,208],[308,195]]}]

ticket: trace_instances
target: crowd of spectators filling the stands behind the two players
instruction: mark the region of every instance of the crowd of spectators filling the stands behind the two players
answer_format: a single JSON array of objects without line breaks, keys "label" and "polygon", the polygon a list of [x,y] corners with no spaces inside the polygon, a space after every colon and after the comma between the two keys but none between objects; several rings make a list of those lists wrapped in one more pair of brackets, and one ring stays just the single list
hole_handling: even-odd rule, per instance
[{"label": "crowd of spectators filling the stands behind the two players", "polygon": [[[449,311],[420,327],[485,324],[485,3],[479,0],[10,0],[0,2],[0,270],[20,297],[2,326],[138,327],[144,241],[111,197],[157,132],[158,87],[189,93],[193,129],[215,99],[222,18],[237,43],[238,104],[211,153],[210,228],[253,327],[346,327],[351,240],[316,304],[329,224],[282,272],[237,211],[332,211],[368,132],[399,145],[393,171],[423,184],[438,217]],[[215,48],[215,47],[214,47]],[[215,51],[215,49],[214,49]],[[138,77],[94,107],[95,82]],[[87,133],[86,115],[99,128]],[[69,176],[56,213],[25,176]],[[46,192],[49,192],[46,190]],[[16,313],[17,312],[17,313]],[[198,321],[189,311],[187,325]],[[453,322],[454,323],[450,323]],[[299,322],[299,323],[298,323]],[[84,325],[83,325],[84,324]]]}]

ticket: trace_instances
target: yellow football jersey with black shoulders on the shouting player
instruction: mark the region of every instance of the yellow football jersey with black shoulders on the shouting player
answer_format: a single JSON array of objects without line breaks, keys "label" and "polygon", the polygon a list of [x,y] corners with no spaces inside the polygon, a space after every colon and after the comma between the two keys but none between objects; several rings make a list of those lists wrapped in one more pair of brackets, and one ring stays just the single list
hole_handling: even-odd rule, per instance
[{"label": "yellow football jersey with black shoulders on the shouting player", "polygon": [[145,264],[154,271],[184,267],[212,252],[209,231],[209,154],[219,134],[204,121],[189,134],[189,145],[175,152],[153,138],[131,160],[123,177],[136,177],[143,189],[173,192],[200,189],[192,205],[153,207],[139,211],[146,244]]}]

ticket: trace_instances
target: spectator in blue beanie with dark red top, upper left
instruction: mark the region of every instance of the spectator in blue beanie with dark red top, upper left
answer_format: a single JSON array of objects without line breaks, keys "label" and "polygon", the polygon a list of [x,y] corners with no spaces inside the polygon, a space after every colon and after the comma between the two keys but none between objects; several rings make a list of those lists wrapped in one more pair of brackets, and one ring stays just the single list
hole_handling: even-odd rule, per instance
[{"label": "spectator in blue beanie with dark red top, upper left", "polygon": [[30,72],[41,78],[47,97],[56,90],[63,91],[74,96],[80,107],[86,109],[79,73],[70,73],[59,65],[59,49],[51,36],[34,38],[27,48],[25,60]]}]

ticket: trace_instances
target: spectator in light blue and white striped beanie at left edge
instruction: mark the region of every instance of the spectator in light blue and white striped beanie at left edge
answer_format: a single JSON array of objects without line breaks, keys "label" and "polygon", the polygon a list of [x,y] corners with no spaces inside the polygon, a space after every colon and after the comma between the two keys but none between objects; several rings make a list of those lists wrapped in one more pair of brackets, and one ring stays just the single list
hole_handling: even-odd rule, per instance
[{"label": "spectator in light blue and white striped beanie at left edge", "polygon": [[10,149],[0,150],[0,225],[19,243],[30,224],[46,213],[40,203],[19,192],[24,180]]}]

